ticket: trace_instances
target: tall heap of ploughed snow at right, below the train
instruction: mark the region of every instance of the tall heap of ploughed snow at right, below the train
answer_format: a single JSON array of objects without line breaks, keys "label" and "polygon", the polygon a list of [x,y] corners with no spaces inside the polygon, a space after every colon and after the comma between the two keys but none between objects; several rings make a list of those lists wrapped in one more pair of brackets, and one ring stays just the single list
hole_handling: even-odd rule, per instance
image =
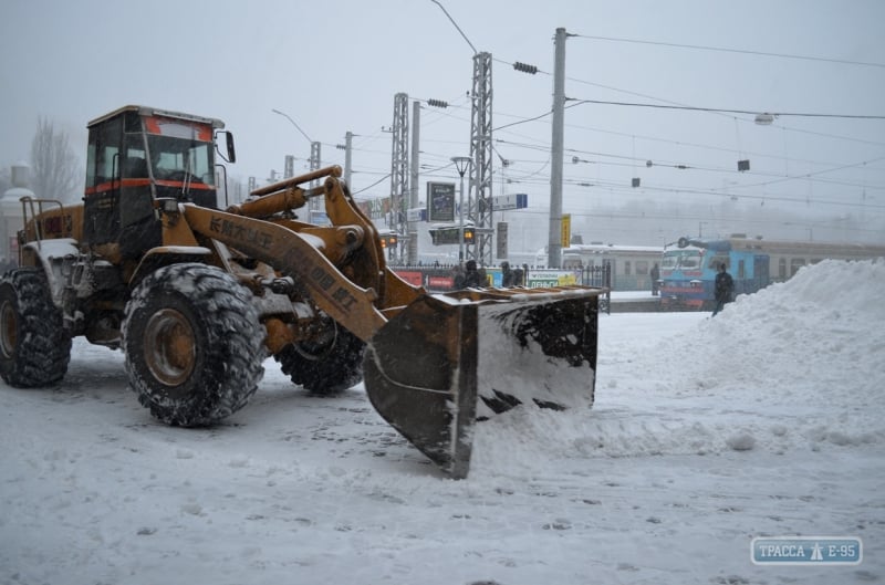
[{"label": "tall heap of ploughed snow at right, below the train", "polygon": [[[699,324],[686,344],[704,358],[697,385],[728,391],[769,387],[752,398],[774,404],[871,405],[885,372],[883,284],[883,260],[827,260],[739,296]],[[737,370],[742,375],[726,379]]]}]

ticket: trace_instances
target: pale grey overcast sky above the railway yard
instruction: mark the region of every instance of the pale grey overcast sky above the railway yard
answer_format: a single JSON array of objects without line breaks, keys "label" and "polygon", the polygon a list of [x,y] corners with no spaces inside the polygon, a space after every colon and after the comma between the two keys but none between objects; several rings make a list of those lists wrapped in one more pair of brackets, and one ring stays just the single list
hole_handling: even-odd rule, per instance
[{"label": "pale grey overcast sky above the railway yard", "polygon": [[[759,126],[752,114],[580,103],[885,116],[885,2],[440,1],[469,42],[492,54],[494,148],[511,161],[508,184],[493,161],[496,195],[549,200],[551,118],[542,114],[562,27],[574,35],[565,212],[634,199],[712,208],[735,196],[747,206],[853,213],[885,230],[883,119],[783,115]],[[39,116],[66,130],[82,156],[90,119],[138,103],[223,119],[238,147],[230,175],[263,182],[285,155],[296,170],[310,156],[277,108],[322,143],[323,164],[343,164],[335,145],[353,132],[353,190],[383,197],[392,139],[383,128],[402,92],[449,102],[421,111],[421,182],[456,180],[452,168],[436,169],[469,154],[472,55],[431,0],[6,0],[0,165],[28,158]],[[517,72],[517,61],[540,71]],[[738,173],[739,159],[750,171]]]}]

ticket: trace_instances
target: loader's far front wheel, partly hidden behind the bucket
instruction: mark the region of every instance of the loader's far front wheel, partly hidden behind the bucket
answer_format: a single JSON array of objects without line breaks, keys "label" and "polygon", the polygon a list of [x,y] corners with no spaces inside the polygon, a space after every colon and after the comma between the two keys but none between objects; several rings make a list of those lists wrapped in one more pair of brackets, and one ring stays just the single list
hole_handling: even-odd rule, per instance
[{"label": "loader's far front wheel, partly hidden behind the bucket", "polygon": [[292,344],[274,355],[283,374],[314,394],[335,394],[363,380],[366,344],[331,322],[323,343]]}]

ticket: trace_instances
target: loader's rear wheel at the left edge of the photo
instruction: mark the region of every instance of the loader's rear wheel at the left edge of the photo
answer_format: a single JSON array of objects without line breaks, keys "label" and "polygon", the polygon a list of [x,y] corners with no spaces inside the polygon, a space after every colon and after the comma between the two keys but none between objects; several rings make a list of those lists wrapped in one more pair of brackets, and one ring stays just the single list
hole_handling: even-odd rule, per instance
[{"label": "loader's rear wheel at the left edge of the photo", "polygon": [[51,386],[67,373],[71,337],[40,269],[14,269],[0,279],[0,376],[10,386]]}]

